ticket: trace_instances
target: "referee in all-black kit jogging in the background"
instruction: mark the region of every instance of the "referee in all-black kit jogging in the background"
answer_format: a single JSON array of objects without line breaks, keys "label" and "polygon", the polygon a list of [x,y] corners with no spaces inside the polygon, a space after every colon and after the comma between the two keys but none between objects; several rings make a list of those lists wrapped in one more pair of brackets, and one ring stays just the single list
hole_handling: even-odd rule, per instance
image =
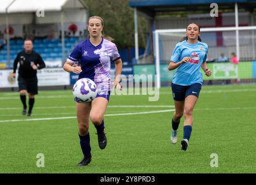
[{"label": "referee in all-black kit jogging in the background", "polygon": [[31,116],[32,108],[35,102],[35,95],[38,94],[36,70],[45,68],[45,62],[42,57],[33,50],[31,39],[25,39],[24,50],[17,54],[13,64],[13,76],[16,77],[16,69],[19,66],[19,92],[20,99],[23,104],[22,114],[27,114],[26,93],[28,92],[28,114]]}]

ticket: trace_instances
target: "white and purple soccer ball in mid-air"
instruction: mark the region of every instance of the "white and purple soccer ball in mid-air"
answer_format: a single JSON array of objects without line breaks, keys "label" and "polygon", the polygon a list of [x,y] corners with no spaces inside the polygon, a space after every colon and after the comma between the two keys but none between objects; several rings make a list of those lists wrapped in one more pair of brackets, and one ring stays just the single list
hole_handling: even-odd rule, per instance
[{"label": "white and purple soccer ball in mid-air", "polygon": [[79,79],[73,86],[73,95],[78,103],[92,102],[97,95],[97,86],[91,79]]}]

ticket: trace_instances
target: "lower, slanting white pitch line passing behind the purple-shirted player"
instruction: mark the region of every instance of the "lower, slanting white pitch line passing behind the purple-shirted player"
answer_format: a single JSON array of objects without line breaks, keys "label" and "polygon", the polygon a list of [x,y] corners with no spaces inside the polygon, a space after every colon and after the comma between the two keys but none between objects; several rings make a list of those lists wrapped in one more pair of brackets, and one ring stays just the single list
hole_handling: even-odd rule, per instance
[{"label": "lower, slanting white pitch line passing behind the purple-shirted player", "polygon": [[[136,114],[162,113],[162,112],[172,112],[172,111],[174,111],[174,110],[175,110],[175,109],[157,110],[157,111],[148,111],[148,112],[105,114],[104,117],[106,117],[106,116],[126,116],[126,115],[136,115]],[[65,119],[76,119],[76,116],[70,116],[70,117],[46,117],[46,118],[22,119],[22,120],[0,120],[0,123],[18,122],[18,121],[65,120]]]}]

